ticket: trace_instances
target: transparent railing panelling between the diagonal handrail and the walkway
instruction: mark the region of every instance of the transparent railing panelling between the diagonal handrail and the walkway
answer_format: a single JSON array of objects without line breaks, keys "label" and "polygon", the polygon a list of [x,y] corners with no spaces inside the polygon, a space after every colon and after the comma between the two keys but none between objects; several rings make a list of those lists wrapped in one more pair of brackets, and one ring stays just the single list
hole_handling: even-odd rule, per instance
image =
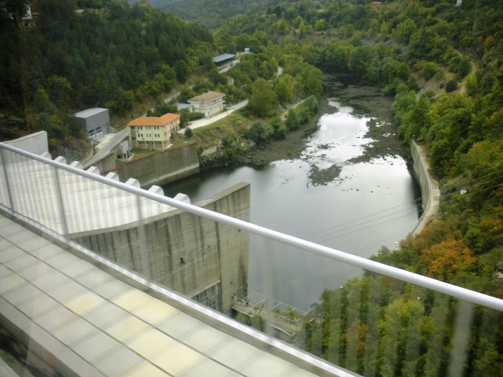
[{"label": "transparent railing panelling between the diagonal handrail and the walkway", "polygon": [[[501,312],[13,152],[4,150],[2,157],[2,205],[11,206],[10,192],[12,207],[23,216],[330,363],[366,376],[499,371]],[[202,204],[248,220],[249,203],[241,194]]]}]

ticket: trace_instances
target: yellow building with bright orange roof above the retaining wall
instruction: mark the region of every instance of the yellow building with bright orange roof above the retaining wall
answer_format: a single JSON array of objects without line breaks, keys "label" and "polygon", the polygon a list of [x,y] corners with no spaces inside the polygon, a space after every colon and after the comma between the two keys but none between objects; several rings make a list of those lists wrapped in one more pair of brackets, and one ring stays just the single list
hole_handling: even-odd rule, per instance
[{"label": "yellow building with bright orange roof above the retaining wall", "polygon": [[129,143],[134,148],[164,149],[180,129],[180,115],[167,113],[161,117],[141,117],[128,123]]}]

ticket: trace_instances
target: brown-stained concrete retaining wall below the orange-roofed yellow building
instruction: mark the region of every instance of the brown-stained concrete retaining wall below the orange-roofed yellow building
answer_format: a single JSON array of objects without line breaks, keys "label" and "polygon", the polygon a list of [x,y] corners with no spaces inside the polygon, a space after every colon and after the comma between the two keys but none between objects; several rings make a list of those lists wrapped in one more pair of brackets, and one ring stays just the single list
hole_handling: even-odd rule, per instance
[{"label": "brown-stained concrete retaining wall below the orange-roofed yellow building", "polygon": [[191,143],[125,162],[115,169],[103,171],[103,174],[109,171],[117,173],[121,182],[134,177],[139,180],[141,187],[173,182],[199,172],[197,144]]}]

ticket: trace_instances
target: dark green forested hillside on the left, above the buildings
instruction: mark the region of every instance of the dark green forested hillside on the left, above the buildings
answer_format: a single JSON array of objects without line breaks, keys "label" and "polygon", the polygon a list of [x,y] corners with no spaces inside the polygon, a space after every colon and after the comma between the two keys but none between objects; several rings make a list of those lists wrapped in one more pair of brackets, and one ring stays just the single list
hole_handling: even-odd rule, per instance
[{"label": "dark green forested hillside on the left, above the buildings", "polygon": [[75,111],[122,114],[215,69],[207,30],[145,4],[40,0],[32,12],[29,28],[0,19],[0,112],[47,130],[53,145],[81,137]]}]

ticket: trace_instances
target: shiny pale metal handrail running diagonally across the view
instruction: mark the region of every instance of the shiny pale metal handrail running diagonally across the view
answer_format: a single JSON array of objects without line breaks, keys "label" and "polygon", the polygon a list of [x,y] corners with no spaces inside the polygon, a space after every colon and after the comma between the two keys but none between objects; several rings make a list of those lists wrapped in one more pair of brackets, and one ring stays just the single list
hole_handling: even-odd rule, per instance
[{"label": "shiny pale metal handrail running diagonally across the view", "polygon": [[467,302],[482,305],[491,309],[503,312],[503,300],[497,299],[492,296],[484,295],[479,292],[471,291],[466,288],[461,288],[452,284],[448,284],[444,281],[436,280],[431,277],[423,276],[417,273],[409,272],[397,267],[392,267],[387,264],[379,263],[370,259],[366,259],[360,256],[352,255],[340,250],[332,249],[327,246],[318,245],[316,243],[306,241],[294,236],[290,236],[281,232],[277,232],[272,229],[262,227],[260,225],[251,224],[243,220],[235,219],[233,217],[222,215],[217,212],[213,212],[201,207],[194,206],[192,204],[187,204],[180,202],[178,200],[171,199],[159,194],[151,193],[149,191],[139,189],[138,187],[131,186],[98,174],[91,173],[86,170],[78,169],[73,166],[66,165],[51,159],[38,156],[36,154],[27,152],[25,150],[13,147],[11,145],[0,143],[0,148],[5,150],[20,154],[22,156],[52,165],[56,168],[80,175],[85,178],[89,178],[109,186],[115,187],[116,189],[124,190],[128,193],[138,195],[140,197],[150,199],[165,205],[176,207],[178,209],[187,211],[189,213],[218,221],[233,227],[236,227],[247,232],[278,241],[311,253],[321,255],[333,260],[348,263],[369,271],[377,272],[386,276],[394,277],[396,279],[415,284],[424,288],[431,289],[446,295],[456,297],[458,299],[465,300]]}]

